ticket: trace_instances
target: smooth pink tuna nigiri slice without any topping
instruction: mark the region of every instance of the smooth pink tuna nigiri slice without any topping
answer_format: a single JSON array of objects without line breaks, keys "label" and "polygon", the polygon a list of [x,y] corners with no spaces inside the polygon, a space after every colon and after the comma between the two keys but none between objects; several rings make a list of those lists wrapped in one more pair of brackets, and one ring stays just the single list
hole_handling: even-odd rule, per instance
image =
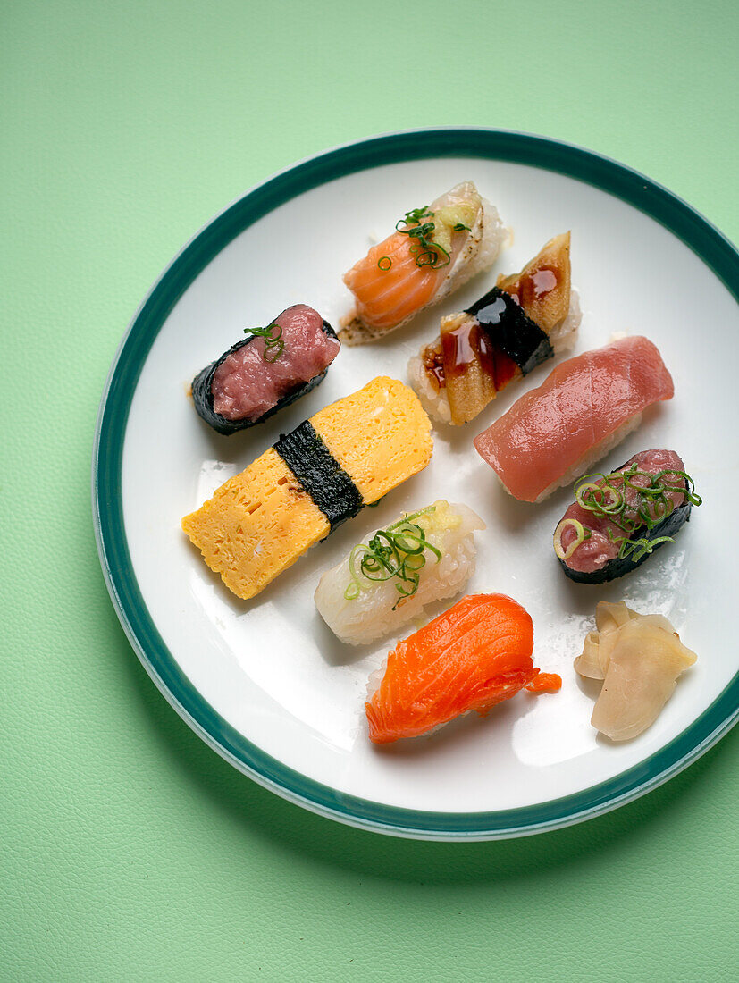
[{"label": "smooth pink tuna nigiri slice without any topping", "polygon": [[537,501],[593,459],[598,444],[673,392],[654,344],[641,335],[622,338],[562,362],[475,437],[475,446],[515,498]]}]

